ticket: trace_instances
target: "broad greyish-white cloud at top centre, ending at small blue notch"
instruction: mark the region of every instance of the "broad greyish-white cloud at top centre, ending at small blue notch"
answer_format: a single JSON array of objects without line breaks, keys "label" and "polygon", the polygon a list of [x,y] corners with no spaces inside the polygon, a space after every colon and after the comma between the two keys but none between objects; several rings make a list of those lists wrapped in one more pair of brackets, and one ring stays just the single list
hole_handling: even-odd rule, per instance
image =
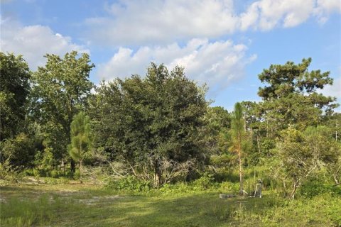
[{"label": "broad greyish-white cloud at top centre, ending at small blue notch", "polygon": [[106,7],[109,17],[88,18],[90,38],[115,45],[169,43],[233,33],[238,18],[233,1],[119,1]]}]

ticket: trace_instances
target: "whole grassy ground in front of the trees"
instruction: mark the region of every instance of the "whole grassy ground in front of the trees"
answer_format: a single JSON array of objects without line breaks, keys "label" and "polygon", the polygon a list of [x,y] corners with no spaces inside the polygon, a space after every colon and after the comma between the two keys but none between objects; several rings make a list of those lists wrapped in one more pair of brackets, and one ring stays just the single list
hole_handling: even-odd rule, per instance
[{"label": "whole grassy ground in front of the trees", "polygon": [[118,194],[92,184],[8,184],[2,226],[341,226],[341,198],[219,199],[219,192]]}]

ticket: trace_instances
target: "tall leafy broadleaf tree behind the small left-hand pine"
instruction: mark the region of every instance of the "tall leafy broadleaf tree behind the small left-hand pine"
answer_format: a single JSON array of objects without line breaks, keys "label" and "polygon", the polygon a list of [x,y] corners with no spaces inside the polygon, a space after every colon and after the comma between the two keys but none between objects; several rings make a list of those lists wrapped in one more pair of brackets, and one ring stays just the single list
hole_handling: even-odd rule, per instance
[{"label": "tall leafy broadleaf tree behind the small left-hand pine", "polygon": [[[67,145],[70,144],[70,124],[78,111],[85,109],[87,97],[94,87],[89,80],[93,64],[89,55],[77,52],[45,55],[45,67],[38,67],[32,78],[31,113],[40,124],[44,143],[52,149],[55,162],[68,158]],[[73,160],[71,170],[75,170]]]}]

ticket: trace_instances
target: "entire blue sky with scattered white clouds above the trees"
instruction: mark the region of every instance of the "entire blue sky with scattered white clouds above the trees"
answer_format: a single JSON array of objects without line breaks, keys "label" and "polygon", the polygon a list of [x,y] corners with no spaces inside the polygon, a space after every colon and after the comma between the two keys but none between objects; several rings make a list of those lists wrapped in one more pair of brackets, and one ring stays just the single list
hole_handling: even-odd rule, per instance
[{"label": "entire blue sky with scattered white clouds above the trees", "polygon": [[264,68],[312,57],[335,79],[322,92],[341,100],[341,0],[1,0],[0,16],[1,51],[33,71],[71,50],[90,53],[95,84],[180,65],[231,110],[259,100]]}]

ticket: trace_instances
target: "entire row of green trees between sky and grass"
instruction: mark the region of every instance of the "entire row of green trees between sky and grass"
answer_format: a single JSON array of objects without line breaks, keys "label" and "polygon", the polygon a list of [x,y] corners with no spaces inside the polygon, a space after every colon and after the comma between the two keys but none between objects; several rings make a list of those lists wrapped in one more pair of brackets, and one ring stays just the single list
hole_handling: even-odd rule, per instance
[{"label": "entire row of green trees between sky and grass", "polygon": [[20,55],[0,57],[2,179],[79,170],[82,181],[96,170],[158,188],[207,175],[222,182],[238,170],[242,192],[244,172],[258,167],[291,197],[314,177],[340,184],[341,115],[334,97],[318,93],[330,73],[308,71],[310,58],[271,65],[259,74],[262,101],[229,113],[211,107],[181,67],[152,63],[144,77],[96,87],[87,54],[45,55],[36,72]]}]

